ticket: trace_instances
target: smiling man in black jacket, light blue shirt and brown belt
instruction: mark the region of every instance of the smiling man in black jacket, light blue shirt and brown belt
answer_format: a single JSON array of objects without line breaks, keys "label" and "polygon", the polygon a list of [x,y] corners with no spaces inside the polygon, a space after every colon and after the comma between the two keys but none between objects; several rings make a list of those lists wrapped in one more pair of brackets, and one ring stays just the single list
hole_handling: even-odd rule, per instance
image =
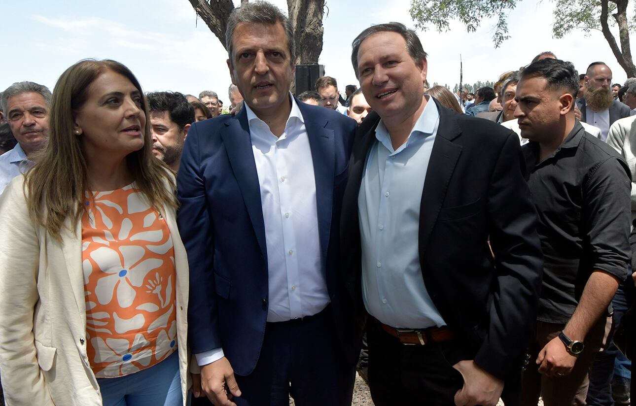
[{"label": "smiling man in black jacket, light blue shirt and brown belt", "polygon": [[374,25],[353,45],[374,112],[349,163],[341,252],[373,402],[496,405],[503,390],[518,404],[542,266],[518,137],[422,96],[413,30]]}]

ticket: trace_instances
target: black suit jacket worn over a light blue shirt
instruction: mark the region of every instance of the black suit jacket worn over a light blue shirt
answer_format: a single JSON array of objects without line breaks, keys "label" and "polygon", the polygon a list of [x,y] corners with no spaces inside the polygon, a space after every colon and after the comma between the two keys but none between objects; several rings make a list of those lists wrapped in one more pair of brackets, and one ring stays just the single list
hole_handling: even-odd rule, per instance
[{"label": "black suit jacket worn over a light blue shirt", "polygon": [[[439,129],[420,206],[422,277],[448,327],[473,349],[475,362],[500,379],[518,377],[535,323],[543,269],[519,140],[492,121],[436,104]],[[346,286],[359,329],[366,312],[358,193],[378,121],[376,113],[369,114],[357,135],[340,229]]]}]

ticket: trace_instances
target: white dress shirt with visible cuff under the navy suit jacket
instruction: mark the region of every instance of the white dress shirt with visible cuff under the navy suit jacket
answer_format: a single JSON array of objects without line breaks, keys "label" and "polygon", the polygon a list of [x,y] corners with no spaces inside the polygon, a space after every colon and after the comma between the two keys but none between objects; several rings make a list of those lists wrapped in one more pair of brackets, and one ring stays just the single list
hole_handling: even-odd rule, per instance
[{"label": "white dress shirt with visible cuff under the navy suit jacket", "polygon": [[[265,222],[267,321],[319,313],[329,304],[321,264],[314,162],[305,120],[291,97],[285,131],[276,137],[245,104]],[[223,349],[195,354],[198,365],[219,360]]]}]

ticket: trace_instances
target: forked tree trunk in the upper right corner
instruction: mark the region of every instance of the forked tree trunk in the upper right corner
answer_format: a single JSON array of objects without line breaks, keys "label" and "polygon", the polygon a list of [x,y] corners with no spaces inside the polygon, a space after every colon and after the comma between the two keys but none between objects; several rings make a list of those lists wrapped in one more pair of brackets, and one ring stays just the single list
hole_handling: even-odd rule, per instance
[{"label": "forked tree trunk in the upper right corner", "polygon": [[[609,48],[611,48],[614,53],[614,57],[618,61],[618,64],[625,70],[628,78],[636,77],[636,67],[634,67],[632,61],[632,51],[630,50],[630,34],[627,30],[627,0],[619,0],[616,3],[617,10],[616,14],[614,14],[614,18],[616,18],[616,22],[618,22],[619,27],[619,37],[621,39],[621,47],[622,51],[618,48],[618,44],[616,43],[616,38],[612,35],[612,32],[609,30],[609,24],[607,19],[609,18],[609,4],[607,3],[609,0],[601,0],[601,11],[600,11],[600,25],[601,30],[603,32],[603,36],[605,40],[609,44]],[[622,11],[621,11],[622,10]]]}]

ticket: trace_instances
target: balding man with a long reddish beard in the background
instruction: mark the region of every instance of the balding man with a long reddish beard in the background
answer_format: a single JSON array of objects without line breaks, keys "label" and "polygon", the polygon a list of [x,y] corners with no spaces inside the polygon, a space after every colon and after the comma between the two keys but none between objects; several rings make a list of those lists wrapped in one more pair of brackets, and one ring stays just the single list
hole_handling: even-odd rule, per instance
[{"label": "balding man with a long reddish beard in the background", "polygon": [[630,116],[630,108],[614,100],[612,85],[612,70],[604,62],[593,62],[583,79],[585,87],[584,97],[576,104],[581,110],[581,121],[600,129],[600,139],[607,140],[609,126],[619,118]]}]

